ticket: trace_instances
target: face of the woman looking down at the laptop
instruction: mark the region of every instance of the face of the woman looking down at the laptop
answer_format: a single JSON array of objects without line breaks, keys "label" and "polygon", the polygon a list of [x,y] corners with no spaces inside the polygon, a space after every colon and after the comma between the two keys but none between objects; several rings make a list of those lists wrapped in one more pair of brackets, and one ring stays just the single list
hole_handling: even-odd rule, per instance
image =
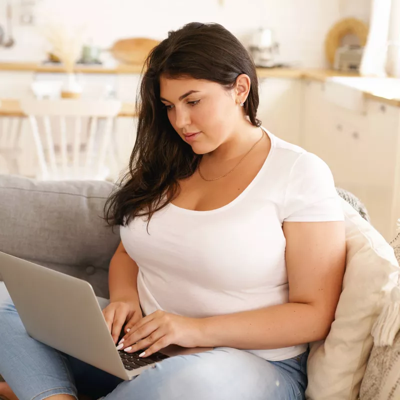
[{"label": "face of the woman looking down at the laptop", "polygon": [[226,141],[242,113],[233,90],[208,80],[161,76],[160,100],[173,128],[197,154]]}]

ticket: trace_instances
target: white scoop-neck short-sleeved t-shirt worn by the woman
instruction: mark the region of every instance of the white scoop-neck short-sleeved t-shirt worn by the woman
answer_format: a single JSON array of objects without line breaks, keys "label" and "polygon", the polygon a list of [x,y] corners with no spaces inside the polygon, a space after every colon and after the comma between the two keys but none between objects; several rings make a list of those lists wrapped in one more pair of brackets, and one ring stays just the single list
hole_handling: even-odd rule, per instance
[{"label": "white scoop-neck short-sleeved t-shirt worn by the woman", "polygon": [[[168,204],[152,216],[148,233],[144,217],[120,227],[125,250],[139,267],[144,314],[162,309],[201,318],[287,303],[283,221],[344,219],[325,162],[265,132],[269,154],[230,203],[210,211]],[[248,351],[282,360],[305,349]]]}]

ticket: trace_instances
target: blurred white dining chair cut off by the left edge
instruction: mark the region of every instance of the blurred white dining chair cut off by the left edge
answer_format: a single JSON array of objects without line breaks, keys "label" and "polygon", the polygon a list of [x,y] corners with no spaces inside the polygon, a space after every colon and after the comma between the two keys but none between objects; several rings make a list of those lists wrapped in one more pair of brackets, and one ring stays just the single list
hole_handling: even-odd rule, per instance
[{"label": "blurred white dining chair cut off by the left edge", "polygon": [[0,116],[0,158],[5,163],[5,170],[0,168],[1,172],[19,173],[18,157],[21,154],[19,140],[22,122],[23,118],[19,116]]}]

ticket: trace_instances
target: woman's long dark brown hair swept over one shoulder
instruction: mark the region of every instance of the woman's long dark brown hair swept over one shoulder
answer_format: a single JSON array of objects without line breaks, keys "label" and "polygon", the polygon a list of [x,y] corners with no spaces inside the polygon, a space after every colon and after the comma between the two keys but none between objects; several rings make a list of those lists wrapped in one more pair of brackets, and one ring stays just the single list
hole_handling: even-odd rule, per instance
[{"label": "woman's long dark brown hair swept over one shoulder", "polygon": [[254,62],[243,44],[218,23],[190,22],[148,54],[136,98],[138,116],[136,141],[129,169],[115,184],[104,206],[109,225],[125,225],[139,215],[152,214],[179,194],[179,179],[194,173],[201,155],[185,143],[170,124],[159,99],[160,75],[190,77],[235,87],[238,75],[250,77],[245,114],[255,126],[258,108],[258,79]]}]

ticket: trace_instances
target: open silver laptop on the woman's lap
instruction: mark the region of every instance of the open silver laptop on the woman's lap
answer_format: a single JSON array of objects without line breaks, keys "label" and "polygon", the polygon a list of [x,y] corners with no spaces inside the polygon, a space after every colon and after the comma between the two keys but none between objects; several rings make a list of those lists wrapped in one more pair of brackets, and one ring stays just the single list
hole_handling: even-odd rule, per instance
[{"label": "open silver laptop on the woman's lap", "polygon": [[118,351],[87,281],[1,251],[0,275],[31,337],[121,379],[167,357],[211,349],[170,345],[149,357]]}]

